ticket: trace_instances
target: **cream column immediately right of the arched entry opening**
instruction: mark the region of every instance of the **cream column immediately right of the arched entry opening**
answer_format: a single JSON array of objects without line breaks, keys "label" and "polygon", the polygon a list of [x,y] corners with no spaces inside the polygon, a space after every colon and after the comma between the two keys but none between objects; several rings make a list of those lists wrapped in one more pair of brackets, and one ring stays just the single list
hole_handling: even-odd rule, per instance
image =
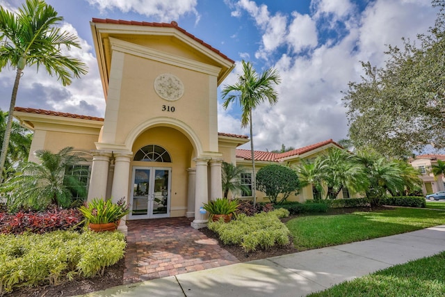
[{"label": "cream column immediately right of the arched entry opening", "polygon": [[196,163],[196,184],[195,184],[195,220],[191,226],[195,229],[206,227],[207,214],[200,213],[200,207],[209,202],[209,190],[207,186],[207,162],[209,159],[195,159]]}]

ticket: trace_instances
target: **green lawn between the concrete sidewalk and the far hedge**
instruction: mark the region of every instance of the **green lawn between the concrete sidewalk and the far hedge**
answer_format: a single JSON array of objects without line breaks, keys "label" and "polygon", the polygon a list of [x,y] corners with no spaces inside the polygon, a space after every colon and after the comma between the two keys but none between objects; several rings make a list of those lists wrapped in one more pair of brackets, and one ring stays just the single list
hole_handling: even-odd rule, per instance
[{"label": "green lawn between the concrete sidewalk and the far hedge", "polygon": [[428,209],[356,212],[336,216],[301,216],[286,223],[299,250],[337,246],[445,224],[445,211]]}]

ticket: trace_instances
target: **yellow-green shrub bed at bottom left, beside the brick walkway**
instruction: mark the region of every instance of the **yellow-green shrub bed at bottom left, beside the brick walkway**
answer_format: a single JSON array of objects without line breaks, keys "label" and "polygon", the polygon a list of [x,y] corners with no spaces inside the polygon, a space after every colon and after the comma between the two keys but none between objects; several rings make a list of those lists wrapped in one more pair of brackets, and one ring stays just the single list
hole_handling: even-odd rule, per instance
[{"label": "yellow-green shrub bed at bottom left, beside the brick walkway", "polygon": [[124,257],[120,232],[0,234],[0,296],[15,287],[57,284],[76,274],[101,275]]}]

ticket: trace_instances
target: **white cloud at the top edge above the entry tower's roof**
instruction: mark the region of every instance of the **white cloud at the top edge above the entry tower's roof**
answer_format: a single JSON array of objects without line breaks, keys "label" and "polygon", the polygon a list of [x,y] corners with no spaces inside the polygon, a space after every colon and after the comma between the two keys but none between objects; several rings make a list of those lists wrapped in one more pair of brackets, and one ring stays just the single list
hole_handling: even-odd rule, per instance
[{"label": "white cloud at the top edge above the entry tower's roof", "polygon": [[197,0],[88,0],[102,12],[117,8],[122,13],[138,13],[159,19],[159,22],[171,22],[182,15],[193,13],[197,17]]}]

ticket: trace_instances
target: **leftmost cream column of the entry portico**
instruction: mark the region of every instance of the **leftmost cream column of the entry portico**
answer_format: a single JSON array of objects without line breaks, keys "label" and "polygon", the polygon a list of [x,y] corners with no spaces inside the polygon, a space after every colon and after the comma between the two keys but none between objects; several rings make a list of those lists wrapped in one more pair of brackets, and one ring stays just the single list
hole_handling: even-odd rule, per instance
[{"label": "leftmost cream column of the entry portico", "polygon": [[88,202],[94,198],[106,199],[106,183],[108,181],[108,166],[111,152],[92,151],[92,166]]}]

